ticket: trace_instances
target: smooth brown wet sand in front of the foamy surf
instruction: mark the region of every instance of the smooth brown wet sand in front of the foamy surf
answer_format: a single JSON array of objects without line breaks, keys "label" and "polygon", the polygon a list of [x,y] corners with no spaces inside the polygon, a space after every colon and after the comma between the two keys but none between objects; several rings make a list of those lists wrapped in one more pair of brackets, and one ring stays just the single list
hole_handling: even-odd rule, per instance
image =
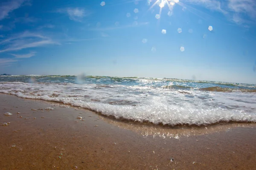
[{"label": "smooth brown wet sand in front of the foamy surf", "polygon": [[255,124],[148,126],[56,102],[0,101],[0,123],[10,122],[0,126],[1,170],[256,169]]}]

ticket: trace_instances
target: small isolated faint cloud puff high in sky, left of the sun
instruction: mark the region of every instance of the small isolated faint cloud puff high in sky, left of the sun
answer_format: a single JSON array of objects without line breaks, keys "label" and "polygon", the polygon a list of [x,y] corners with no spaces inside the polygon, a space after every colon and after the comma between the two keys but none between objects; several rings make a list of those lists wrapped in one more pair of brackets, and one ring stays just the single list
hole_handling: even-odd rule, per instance
[{"label": "small isolated faint cloud puff high in sky, left of the sun", "polygon": [[84,8],[62,8],[58,9],[59,13],[66,13],[70,20],[81,22],[84,17],[90,15],[90,12],[85,10]]}]

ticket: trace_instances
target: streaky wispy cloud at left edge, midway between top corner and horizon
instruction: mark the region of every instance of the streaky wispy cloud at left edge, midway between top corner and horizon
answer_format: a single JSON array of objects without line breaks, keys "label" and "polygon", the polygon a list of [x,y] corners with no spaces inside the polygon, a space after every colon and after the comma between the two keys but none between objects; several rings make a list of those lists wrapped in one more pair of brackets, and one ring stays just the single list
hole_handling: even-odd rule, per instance
[{"label": "streaky wispy cloud at left edge, midway between top corner and horizon", "polygon": [[24,32],[5,40],[0,41],[0,45],[4,48],[0,49],[0,53],[7,51],[18,51],[25,48],[33,48],[50,44],[59,44],[53,41],[50,37],[45,37],[41,34]]}]

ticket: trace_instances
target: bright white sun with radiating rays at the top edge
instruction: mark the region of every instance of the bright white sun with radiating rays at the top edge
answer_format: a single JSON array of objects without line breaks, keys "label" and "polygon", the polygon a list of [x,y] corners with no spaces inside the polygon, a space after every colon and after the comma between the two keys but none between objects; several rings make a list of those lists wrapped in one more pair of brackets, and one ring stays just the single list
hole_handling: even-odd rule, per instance
[{"label": "bright white sun with radiating rays at the top edge", "polygon": [[[148,0],[148,2],[151,3],[152,1]],[[165,6],[168,6],[168,8],[169,8],[168,14],[171,14],[173,6],[175,6],[176,3],[179,3],[179,0],[155,0],[153,5],[151,5],[148,10],[150,10],[154,6],[159,6],[160,10],[159,10],[159,14],[156,15],[156,18],[160,19],[161,13],[162,13],[162,8],[164,8]]]}]

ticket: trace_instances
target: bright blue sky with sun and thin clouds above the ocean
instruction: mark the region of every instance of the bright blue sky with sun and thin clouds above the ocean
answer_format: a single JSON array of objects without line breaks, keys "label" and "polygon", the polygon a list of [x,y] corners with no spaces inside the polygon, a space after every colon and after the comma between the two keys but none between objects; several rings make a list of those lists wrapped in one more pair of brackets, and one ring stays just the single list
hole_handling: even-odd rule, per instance
[{"label": "bright blue sky with sun and thin clouds above the ocean", "polygon": [[256,1],[1,1],[1,73],[256,84]]}]

